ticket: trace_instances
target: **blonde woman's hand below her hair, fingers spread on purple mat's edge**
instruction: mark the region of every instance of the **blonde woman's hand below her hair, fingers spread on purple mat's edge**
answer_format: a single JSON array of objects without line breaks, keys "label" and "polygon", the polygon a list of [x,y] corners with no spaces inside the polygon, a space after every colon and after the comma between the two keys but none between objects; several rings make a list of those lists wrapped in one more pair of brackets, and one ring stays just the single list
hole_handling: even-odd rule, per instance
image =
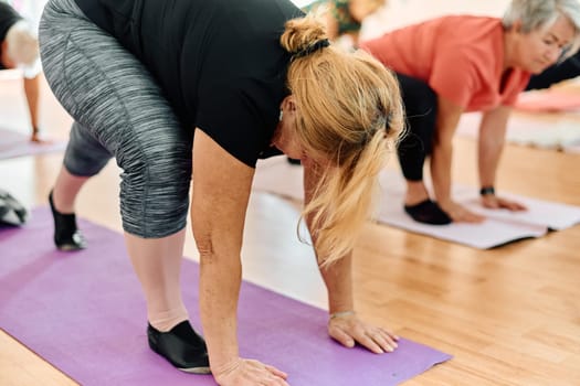
[{"label": "blonde woman's hand below her hair, fingers spread on purple mat's edge", "polygon": [[356,342],[376,354],[394,351],[399,340],[392,332],[368,324],[355,313],[330,318],[328,334],[346,347],[354,347]]}]

